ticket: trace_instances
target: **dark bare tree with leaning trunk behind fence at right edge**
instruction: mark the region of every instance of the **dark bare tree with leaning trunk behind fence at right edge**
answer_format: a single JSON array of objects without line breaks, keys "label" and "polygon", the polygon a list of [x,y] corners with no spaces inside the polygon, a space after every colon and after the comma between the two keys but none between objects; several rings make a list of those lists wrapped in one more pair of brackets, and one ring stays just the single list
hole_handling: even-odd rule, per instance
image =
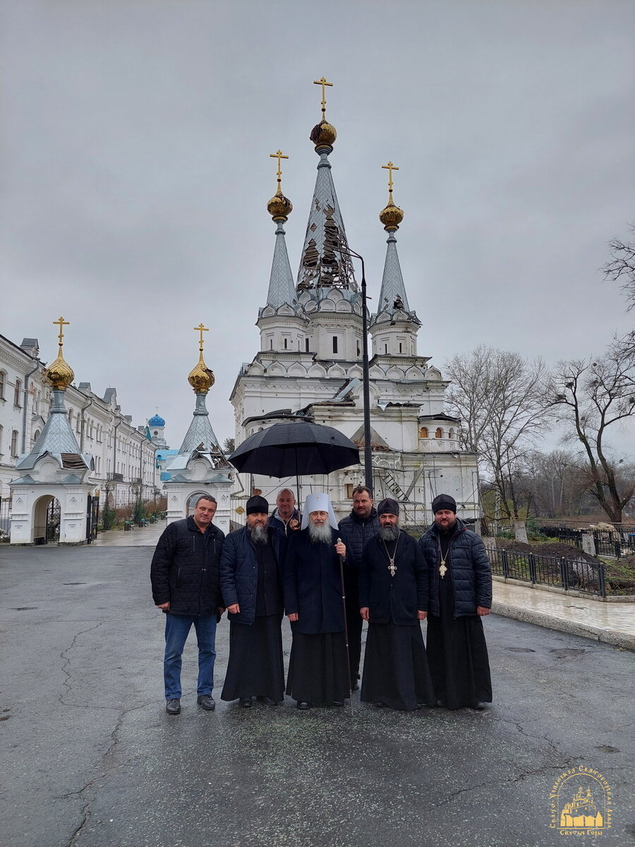
[{"label": "dark bare tree with leaning trunk behind fence at right edge", "polygon": [[568,429],[564,440],[582,445],[589,490],[613,523],[621,523],[635,482],[619,473],[607,437],[635,415],[634,376],[635,352],[614,342],[598,359],[560,362],[549,382],[549,402]]}]

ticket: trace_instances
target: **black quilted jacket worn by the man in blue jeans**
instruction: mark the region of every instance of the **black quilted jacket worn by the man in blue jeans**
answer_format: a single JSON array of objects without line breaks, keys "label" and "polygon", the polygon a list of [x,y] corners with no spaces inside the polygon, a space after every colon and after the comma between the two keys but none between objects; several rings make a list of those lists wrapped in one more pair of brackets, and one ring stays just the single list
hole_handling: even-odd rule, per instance
[{"label": "black quilted jacket worn by the man in blue jeans", "polygon": [[152,557],[152,598],[169,601],[174,615],[215,615],[224,606],[218,562],[224,533],[211,523],[202,533],[189,517],[164,530]]}]

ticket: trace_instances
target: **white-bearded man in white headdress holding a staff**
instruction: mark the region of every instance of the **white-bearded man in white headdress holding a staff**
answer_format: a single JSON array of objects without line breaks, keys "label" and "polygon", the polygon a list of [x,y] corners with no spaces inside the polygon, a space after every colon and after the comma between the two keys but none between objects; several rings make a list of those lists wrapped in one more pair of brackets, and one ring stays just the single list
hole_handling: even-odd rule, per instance
[{"label": "white-bearded man in white headdress holding a staff", "polygon": [[340,532],[326,494],[310,494],[302,512],[302,529],[290,536],[284,561],[284,610],[293,644],[287,694],[299,709],[343,706],[350,678],[345,641]]}]

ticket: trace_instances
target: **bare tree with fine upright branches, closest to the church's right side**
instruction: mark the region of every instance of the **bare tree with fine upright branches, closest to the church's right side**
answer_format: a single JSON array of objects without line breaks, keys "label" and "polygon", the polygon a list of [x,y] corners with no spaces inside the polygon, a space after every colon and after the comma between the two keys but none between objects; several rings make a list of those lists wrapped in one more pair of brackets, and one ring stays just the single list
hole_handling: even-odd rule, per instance
[{"label": "bare tree with fine upright branches, closest to the church's right side", "polygon": [[542,413],[544,362],[482,345],[452,357],[445,371],[452,380],[448,405],[461,418],[463,446],[478,453],[500,492],[501,506],[517,518],[517,472],[548,428]]}]

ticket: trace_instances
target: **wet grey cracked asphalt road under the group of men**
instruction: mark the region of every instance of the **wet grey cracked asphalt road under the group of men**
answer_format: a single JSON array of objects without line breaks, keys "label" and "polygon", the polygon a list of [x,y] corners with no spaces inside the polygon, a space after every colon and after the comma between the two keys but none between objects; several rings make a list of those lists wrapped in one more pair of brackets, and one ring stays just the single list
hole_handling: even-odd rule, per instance
[{"label": "wet grey cracked asphalt road under the group of men", "polygon": [[[354,695],[351,718],[291,700],[204,712],[192,641],[169,717],[151,556],[0,548],[3,847],[567,844],[549,790],[578,766],[614,793],[613,827],[591,840],[635,844],[631,652],[491,615],[489,711]],[[228,639],[224,619],[217,701]]]}]

